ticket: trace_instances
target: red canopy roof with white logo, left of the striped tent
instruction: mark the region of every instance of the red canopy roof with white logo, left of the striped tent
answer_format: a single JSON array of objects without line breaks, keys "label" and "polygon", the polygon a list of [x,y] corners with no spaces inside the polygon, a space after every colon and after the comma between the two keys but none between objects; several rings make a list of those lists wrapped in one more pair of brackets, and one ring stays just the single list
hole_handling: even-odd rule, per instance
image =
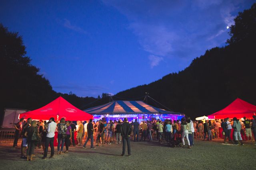
[{"label": "red canopy roof with white logo, left of the striped tent", "polygon": [[66,120],[70,121],[83,121],[93,118],[92,115],[76,108],[62,97],[58,97],[39,109],[21,113],[20,118],[22,117],[25,119],[31,117],[32,119],[37,120],[49,120],[51,117],[54,117],[55,120],[60,120],[64,117]]}]

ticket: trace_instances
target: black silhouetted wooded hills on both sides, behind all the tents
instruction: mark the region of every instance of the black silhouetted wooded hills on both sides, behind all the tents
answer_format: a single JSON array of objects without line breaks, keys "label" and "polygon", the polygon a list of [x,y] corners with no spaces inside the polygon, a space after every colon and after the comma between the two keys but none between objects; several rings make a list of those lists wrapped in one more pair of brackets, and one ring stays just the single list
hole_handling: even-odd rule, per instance
[{"label": "black silhouetted wooded hills on both sides, behind all the tents", "polygon": [[[183,71],[119,92],[113,99],[138,98],[149,92],[149,96],[173,111],[191,117],[214,113],[237,97],[256,104],[256,4],[239,13],[234,21],[226,47],[207,50]],[[81,109],[109,102],[105,93],[101,98],[93,98],[52,90],[39,68],[30,64],[22,37],[1,24],[0,58],[2,111],[5,107],[37,109],[58,96]],[[160,107],[152,100],[148,103]]]}]

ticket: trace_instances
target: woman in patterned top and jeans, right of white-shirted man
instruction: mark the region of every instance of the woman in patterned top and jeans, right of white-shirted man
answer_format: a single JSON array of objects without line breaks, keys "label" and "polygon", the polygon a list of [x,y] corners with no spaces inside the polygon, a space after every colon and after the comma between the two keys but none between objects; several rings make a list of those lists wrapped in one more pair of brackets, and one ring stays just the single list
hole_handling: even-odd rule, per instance
[{"label": "woman in patterned top and jeans, right of white-shirted man", "polygon": [[[58,123],[58,154],[62,154],[64,148],[64,142],[67,138],[67,125],[65,119],[61,118],[60,123]],[[60,148],[61,144],[61,148]]]}]

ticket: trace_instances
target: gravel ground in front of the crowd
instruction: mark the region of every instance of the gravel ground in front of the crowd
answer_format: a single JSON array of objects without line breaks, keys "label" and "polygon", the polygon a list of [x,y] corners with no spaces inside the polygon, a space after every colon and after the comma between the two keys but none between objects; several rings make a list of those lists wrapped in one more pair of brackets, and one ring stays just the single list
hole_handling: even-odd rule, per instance
[{"label": "gravel ground in front of the crowd", "polygon": [[[246,169],[256,170],[256,145],[222,145],[222,139],[214,141],[195,140],[192,149],[168,148],[157,142],[131,142],[131,157],[120,156],[122,144],[105,145],[87,149],[70,147],[70,152],[56,154],[54,158],[42,160],[42,149],[35,150],[35,160],[20,159],[20,148],[12,144],[0,144],[0,169],[74,169],[74,170],[151,170],[151,169]],[[186,142],[186,141],[185,141]],[[18,143],[20,145],[20,143]],[[50,147],[49,147],[50,150]],[[65,147],[64,147],[65,150]],[[48,156],[50,152],[48,152]],[[218,165],[218,167],[214,165]]]}]

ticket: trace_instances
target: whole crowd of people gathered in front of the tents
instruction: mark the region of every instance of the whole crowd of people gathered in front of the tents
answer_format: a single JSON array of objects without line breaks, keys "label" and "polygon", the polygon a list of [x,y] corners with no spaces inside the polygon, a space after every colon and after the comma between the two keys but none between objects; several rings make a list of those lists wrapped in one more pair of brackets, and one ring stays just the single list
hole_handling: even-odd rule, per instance
[{"label": "whole crowd of people gathered in front of the tents", "polygon": [[[92,121],[88,122],[77,121],[77,125],[72,121],[65,121],[64,118],[60,121],[50,118],[46,121],[35,121],[28,118],[27,121],[20,119],[14,126],[16,131],[14,133],[14,144],[13,147],[17,147],[18,139],[22,136],[21,144],[21,158],[27,160],[33,160],[34,149],[42,148],[43,159],[47,158],[48,147],[50,145],[51,154],[50,158],[54,156],[54,136],[55,131],[58,131],[58,154],[68,152],[70,146],[76,146],[75,143],[75,131],[77,146],[82,146],[86,149],[88,141],[90,141],[90,149],[96,149],[96,147],[105,147],[104,145],[123,144],[122,156],[125,154],[126,145],[128,148],[128,156],[131,156],[130,152],[130,137],[134,142],[158,140],[160,144],[176,142],[182,148],[185,148],[185,138],[188,144],[187,148],[191,148],[194,145],[194,138],[211,141],[214,138],[220,138],[220,127],[222,127],[222,135],[224,135],[224,144],[232,142],[234,145],[243,144],[242,136],[249,137],[254,141],[256,135],[256,116],[253,116],[252,120],[246,119],[219,119],[219,120],[203,120],[203,121],[192,121],[190,117],[182,118],[181,120],[166,119],[164,121],[141,121],[140,123],[135,121],[128,122],[127,118],[107,121]],[[23,124],[23,125],[22,125]],[[231,134],[233,129],[233,134]],[[233,141],[231,140],[231,135]],[[82,145],[82,136],[84,136],[84,145]],[[121,138],[122,137],[122,138]],[[139,139],[140,138],[140,139]],[[64,145],[66,151],[63,152]],[[26,156],[25,156],[25,150]]]}]

